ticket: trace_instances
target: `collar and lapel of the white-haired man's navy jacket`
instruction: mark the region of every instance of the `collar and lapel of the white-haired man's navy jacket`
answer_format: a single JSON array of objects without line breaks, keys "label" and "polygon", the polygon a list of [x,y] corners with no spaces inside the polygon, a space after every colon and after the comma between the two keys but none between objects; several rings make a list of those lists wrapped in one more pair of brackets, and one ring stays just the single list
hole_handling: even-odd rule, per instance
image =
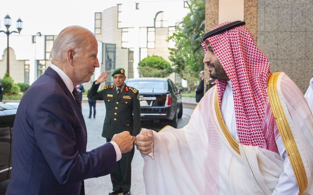
[{"label": "collar and lapel of the white-haired man's navy jacket", "polygon": [[[65,85],[64,81],[61,79],[59,74],[56,71],[54,71],[51,67],[48,67],[47,70],[45,71],[45,73],[48,74],[49,76],[53,77],[59,83],[59,85],[62,87],[64,92],[66,93],[67,98],[69,99],[69,102],[71,103],[71,105],[72,105],[73,109],[75,110],[78,118],[80,119],[80,123],[84,127],[86,139],[87,139],[87,128],[86,128],[84,116],[83,116],[82,112],[80,111],[80,108],[77,105],[72,93],[69,92],[69,89],[67,88],[67,86]],[[74,87],[73,87],[73,89],[74,89]]]}]

